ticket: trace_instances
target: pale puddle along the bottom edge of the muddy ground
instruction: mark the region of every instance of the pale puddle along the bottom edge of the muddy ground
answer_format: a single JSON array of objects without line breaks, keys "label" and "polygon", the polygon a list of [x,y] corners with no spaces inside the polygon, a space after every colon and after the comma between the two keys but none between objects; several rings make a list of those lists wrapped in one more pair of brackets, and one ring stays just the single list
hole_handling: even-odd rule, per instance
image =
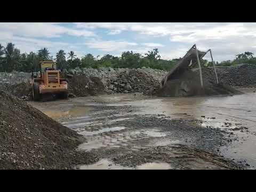
[{"label": "pale puddle along the bottom edge of the muddy ground", "polygon": [[145,163],[137,167],[127,167],[115,164],[108,159],[104,158],[97,163],[91,165],[79,166],[80,170],[169,170],[172,167],[167,163]]}]

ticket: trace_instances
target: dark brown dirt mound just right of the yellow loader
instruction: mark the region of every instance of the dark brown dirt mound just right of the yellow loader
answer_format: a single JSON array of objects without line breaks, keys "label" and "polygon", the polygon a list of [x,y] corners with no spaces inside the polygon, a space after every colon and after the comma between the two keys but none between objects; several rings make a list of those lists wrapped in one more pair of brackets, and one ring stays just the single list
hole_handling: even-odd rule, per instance
[{"label": "dark brown dirt mound just right of the yellow loader", "polygon": [[74,75],[68,79],[68,89],[76,97],[84,97],[102,93],[104,86],[99,77]]}]

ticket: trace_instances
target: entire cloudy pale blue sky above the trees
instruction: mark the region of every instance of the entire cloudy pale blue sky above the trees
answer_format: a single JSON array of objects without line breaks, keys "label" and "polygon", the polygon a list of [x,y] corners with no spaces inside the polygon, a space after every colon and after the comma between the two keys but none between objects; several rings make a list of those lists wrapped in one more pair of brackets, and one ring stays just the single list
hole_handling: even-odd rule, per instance
[{"label": "entire cloudy pale blue sky above the trees", "polygon": [[77,57],[102,57],[124,51],[145,55],[157,48],[167,60],[183,57],[196,44],[223,61],[245,51],[256,53],[256,23],[0,23],[0,44],[9,42],[21,53],[46,47],[54,57],[60,49]]}]

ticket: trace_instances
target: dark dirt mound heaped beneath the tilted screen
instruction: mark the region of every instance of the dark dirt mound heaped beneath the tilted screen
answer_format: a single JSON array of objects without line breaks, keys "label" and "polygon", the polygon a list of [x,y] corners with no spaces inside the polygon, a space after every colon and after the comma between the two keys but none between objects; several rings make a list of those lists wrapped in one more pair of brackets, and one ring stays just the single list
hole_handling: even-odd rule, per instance
[{"label": "dark dirt mound heaped beneath the tilted screen", "polygon": [[159,97],[181,97],[195,95],[241,94],[242,92],[222,83],[214,83],[203,77],[201,87],[199,72],[186,70],[172,76],[166,84],[157,91]]}]

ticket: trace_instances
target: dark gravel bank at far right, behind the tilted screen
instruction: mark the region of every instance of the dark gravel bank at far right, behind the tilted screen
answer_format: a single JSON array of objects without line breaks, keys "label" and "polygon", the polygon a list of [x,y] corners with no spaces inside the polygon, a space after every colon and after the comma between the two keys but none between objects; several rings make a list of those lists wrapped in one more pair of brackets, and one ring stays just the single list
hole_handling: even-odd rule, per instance
[{"label": "dark gravel bank at far right, behind the tilted screen", "polygon": [[[232,67],[217,67],[219,82],[230,86],[256,85],[256,65],[242,64]],[[213,68],[202,69],[203,78],[217,83]]]}]

